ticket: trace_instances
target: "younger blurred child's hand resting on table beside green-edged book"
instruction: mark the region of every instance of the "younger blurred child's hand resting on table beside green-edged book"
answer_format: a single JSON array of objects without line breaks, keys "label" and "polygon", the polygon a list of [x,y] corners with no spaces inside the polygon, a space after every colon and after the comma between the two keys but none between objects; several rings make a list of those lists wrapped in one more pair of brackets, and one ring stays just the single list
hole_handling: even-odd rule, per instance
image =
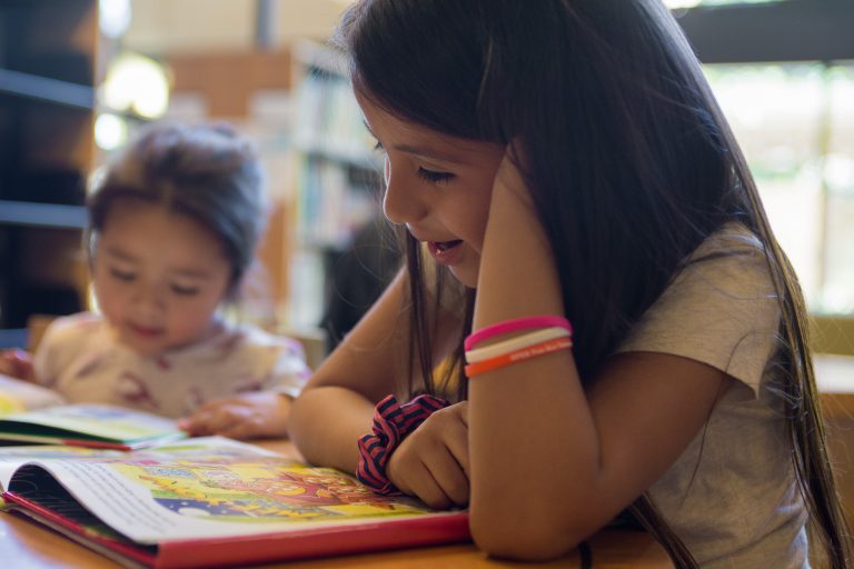
[{"label": "younger blurred child's hand resting on table beside green-edged book", "polygon": [[246,393],[203,405],[190,417],[178,421],[178,426],[193,437],[287,437],[290,405],[291,399],[281,393]]}]

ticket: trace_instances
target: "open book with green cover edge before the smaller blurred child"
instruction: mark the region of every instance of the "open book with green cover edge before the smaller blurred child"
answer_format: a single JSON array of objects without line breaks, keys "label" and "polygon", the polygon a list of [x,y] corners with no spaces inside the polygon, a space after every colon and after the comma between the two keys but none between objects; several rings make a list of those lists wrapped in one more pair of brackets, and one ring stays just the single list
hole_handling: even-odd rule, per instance
[{"label": "open book with green cover edge before the smaller blurred child", "polygon": [[107,405],[63,405],[50,389],[0,376],[0,445],[30,442],[130,450],[187,435],[176,421]]}]

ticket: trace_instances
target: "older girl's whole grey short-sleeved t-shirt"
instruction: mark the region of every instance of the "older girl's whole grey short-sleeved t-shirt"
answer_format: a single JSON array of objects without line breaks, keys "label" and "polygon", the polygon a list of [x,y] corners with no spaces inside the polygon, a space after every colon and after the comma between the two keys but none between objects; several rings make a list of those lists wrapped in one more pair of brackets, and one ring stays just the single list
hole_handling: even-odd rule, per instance
[{"label": "older girl's whole grey short-sleeved t-shirt", "polygon": [[704,569],[808,567],[806,510],[775,393],[778,327],[763,246],[731,223],[691,256],[617,350],[682,356],[738,380],[649,490]]}]

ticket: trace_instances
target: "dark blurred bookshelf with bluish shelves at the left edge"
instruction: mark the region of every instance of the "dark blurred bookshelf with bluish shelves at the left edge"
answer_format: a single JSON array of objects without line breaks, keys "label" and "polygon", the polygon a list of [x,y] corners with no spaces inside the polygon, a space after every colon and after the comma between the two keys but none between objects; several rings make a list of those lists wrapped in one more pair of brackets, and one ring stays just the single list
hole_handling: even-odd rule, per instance
[{"label": "dark blurred bookshelf with bluish shelves at the left edge", "polygon": [[0,328],[87,302],[97,0],[0,3]]}]

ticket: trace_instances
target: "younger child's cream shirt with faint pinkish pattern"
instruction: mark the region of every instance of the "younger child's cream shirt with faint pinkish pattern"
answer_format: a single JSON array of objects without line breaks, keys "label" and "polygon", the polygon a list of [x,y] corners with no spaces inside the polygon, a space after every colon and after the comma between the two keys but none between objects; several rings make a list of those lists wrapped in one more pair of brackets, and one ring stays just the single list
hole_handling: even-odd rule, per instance
[{"label": "younger child's cream shirt with faint pinkish pattern", "polygon": [[309,376],[298,341],[255,327],[224,326],[205,341],[143,357],[117,342],[90,312],[54,320],[33,366],[39,382],[69,403],[111,403],[173,418],[238,393],[296,397]]}]

